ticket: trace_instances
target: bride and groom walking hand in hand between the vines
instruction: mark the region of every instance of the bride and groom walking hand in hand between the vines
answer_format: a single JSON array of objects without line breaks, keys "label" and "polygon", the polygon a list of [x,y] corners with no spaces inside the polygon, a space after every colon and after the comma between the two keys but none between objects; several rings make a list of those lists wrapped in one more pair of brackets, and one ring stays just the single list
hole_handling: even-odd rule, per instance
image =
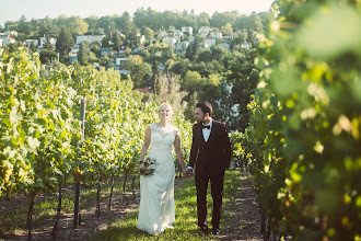
[{"label": "bride and groom walking hand in hand between the vines", "polygon": [[[211,185],[213,199],[212,234],[220,234],[220,218],[223,193],[224,171],[230,167],[231,142],[226,126],[212,119],[212,106],[209,102],[196,104],[193,126],[193,144],[189,163],[186,167],[180,148],[180,134],[168,124],[173,110],[168,104],[159,107],[160,122],[147,127],[140,160],[148,157],[156,160],[152,175],[140,176],[140,206],[138,229],[150,234],[159,234],[173,228],[175,221],[174,177],[175,167],[172,148],[182,167],[184,176],[195,171],[197,190],[198,226],[208,234],[207,226],[207,188]],[[195,169],[195,170],[194,170]]]}]

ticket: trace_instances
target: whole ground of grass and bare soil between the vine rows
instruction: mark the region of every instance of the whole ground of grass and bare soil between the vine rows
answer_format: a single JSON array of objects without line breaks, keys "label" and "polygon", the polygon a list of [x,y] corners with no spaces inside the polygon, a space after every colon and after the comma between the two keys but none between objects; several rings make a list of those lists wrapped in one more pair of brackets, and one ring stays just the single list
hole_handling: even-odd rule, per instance
[{"label": "whole ground of grass and bare soil between the vine rows", "polygon": [[[58,240],[261,240],[260,220],[256,194],[252,186],[252,177],[240,170],[226,171],[224,176],[223,208],[221,219],[221,237],[203,237],[198,232],[196,188],[194,179],[177,181],[175,188],[176,219],[173,230],[165,230],[158,237],[137,229],[139,193],[136,199],[126,205],[123,202],[121,182],[117,183],[112,210],[107,210],[109,186],[102,188],[102,215],[95,217],[96,190],[82,191],[81,215],[82,226],[72,228],[73,187],[65,188],[62,210],[59,220]],[[131,198],[130,183],[127,196]],[[139,185],[139,180],[137,185]],[[0,241],[27,240],[25,229],[28,198],[23,195],[12,196],[9,200],[0,200]],[[35,204],[33,216],[33,240],[50,240],[50,231],[55,223],[57,208],[56,194],[42,194]],[[208,190],[208,216],[211,217],[211,195]]]}]

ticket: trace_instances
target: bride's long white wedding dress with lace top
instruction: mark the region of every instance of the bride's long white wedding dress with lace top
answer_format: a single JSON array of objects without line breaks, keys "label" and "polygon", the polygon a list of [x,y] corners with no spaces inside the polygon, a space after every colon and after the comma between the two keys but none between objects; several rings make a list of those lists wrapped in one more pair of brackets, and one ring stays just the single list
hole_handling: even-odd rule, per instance
[{"label": "bride's long white wedding dress with lace top", "polygon": [[138,229],[158,236],[167,228],[173,229],[175,220],[172,147],[177,128],[159,127],[154,123],[149,127],[151,141],[148,157],[155,159],[155,171],[152,175],[140,176]]}]

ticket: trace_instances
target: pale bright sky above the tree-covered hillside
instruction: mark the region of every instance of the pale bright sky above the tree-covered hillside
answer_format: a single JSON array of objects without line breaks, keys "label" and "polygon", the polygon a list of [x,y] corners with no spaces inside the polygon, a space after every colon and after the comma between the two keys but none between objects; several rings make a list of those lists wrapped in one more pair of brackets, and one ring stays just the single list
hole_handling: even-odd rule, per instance
[{"label": "pale bright sky above the tree-covered hillside", "polygon": [[0,24],[5,21],[20,20],[25,15],[26,20],[55,19],[61,14],[67,16],[90,15],[104,16],[128,11],[131,15],[137,9],[151,8],[156,11],[165,10],[195,10],[196,14],[207,12],[225,12],[237,10],[241,14],[265,12],[270,9],[273,0],[1,0]]}]

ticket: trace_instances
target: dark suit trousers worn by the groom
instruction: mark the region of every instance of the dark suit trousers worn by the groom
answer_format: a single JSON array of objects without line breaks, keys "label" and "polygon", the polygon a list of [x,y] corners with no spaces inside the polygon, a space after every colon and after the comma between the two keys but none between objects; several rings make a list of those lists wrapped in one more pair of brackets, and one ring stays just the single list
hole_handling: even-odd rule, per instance
[{"label": "dark suit trousers worn by the groom", "polygon": [[[198,170],[197,170],[198,171]],[[222,208],[223,195],[223,177],[224,171],[209,172],[202,170],[196,172],[196,190],[197,190],[197,211],[198,211],[198,226],[207,226],[207,188],[210,181],[211,194],[213,199],[212,211],[212,228],[219,228]]]}]

